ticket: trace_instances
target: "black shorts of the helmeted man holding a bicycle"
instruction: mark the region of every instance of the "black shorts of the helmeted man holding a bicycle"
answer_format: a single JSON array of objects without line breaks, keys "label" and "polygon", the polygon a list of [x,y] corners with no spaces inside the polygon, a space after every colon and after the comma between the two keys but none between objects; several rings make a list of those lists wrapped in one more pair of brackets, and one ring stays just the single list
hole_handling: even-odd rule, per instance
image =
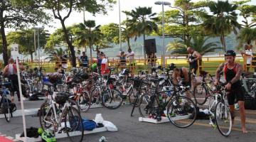
[{"label": "black shorts of the helmeted man holding a bicycle", "polygon": [[242,85],[238,84],[235,87],[231,87],[231,91],[227,92],[228,104],[234,105],[238,101],[245,101],[245,92],[242,89]]}]

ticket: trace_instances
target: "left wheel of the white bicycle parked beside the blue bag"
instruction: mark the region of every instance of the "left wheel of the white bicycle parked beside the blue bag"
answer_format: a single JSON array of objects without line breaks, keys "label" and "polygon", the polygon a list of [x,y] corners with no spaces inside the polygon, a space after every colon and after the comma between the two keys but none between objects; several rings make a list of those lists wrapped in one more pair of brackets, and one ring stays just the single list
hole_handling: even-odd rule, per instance
[{"label": "left wheel of the white bicycle parked beside the blue bag", "polygon": [[50,104],[43,103],[39,111],[39,121],[43,131],[46,131],[47,129],[51,129],[51,127],[53,126],[53,119],[54,119],[53,108],[50,107]]}]

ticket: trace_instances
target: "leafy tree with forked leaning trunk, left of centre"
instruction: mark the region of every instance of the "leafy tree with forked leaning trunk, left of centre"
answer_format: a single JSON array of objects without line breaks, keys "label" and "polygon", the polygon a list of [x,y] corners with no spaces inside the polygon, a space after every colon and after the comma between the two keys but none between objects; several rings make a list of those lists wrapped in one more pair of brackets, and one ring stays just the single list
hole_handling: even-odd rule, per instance
[{"label": "leafy tree with forked leaning trunk, left of centre", "polygon": [[[53,12],[54,18],[58,19],[63,28],[63,33],[65,37],[65,42],[68,44],[68,48],[71,53],[71,60],[73,67],[76,66],[75,50],[72,45],[70,36],[68,35],[68,30],[65,26],[65,20],[67,20],[72,11],[88,11],[90,13],[107,13],[107,8],[111,8],[112,4],[115,3],[114,0],[42,0],[43,6]],[[68,13],[63,16],[60,13],[62,11],[68,11]]]}]

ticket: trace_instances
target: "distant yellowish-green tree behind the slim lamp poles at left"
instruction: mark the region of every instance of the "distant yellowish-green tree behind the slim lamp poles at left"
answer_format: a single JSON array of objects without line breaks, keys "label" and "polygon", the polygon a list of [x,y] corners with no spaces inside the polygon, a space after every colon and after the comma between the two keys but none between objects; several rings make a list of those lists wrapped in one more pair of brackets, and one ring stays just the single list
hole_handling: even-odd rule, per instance
[{"label": "distant yellowish-green tree behind the slim lamp poles at left", "polygon": [[[48,37],[48,33],[46,32],[47,31],[43,30],[38,32],[40,37],[39,43],[43,48],[46,45],[46,38]],[[17,43],[19,45],[19,53],[22,53],[23,55],[31,55],[31,60],[33,60],[33,53],[35,52],[33,29],[11,31],[7,34],[7,41],[10,44]]]}]

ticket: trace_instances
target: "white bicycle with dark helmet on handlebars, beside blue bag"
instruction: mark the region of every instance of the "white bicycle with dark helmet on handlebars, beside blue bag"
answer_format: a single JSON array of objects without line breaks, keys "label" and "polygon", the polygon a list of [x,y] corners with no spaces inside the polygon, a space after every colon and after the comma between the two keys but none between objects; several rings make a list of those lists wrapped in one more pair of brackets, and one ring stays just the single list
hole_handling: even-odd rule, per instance
[{"label": "white bicycle with dark helmet on handlebars, beside blue bag", "polygon": [[[39,121],[43,131],[51,130],[54,135],[64,131],[70,141],[82,141],[82,118],[80,111],[71,105],[73,102],[69,99],[69,94],[53,93],[48,95],[48,100],[49,103],[45,102],[40,107]],[[76,137],[73,137],[74,134]]]}]

